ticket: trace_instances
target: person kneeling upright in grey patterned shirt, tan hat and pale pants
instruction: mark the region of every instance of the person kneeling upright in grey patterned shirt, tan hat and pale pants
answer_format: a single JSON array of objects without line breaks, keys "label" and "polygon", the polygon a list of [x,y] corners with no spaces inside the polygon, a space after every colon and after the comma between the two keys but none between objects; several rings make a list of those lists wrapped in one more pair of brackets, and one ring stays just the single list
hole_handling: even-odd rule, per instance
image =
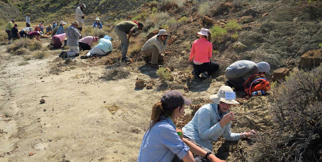
[{"label": "person kneeling upright in grey patterned shirt, tan hat and pale pants", "polygon": [[62,51],[59,57],[73,57],[80,55],[80,49],[78,47],[79,38],[82,37],[81,33],[78,31],[78,21],[73,21],[71,26],[66,29],[67,46],[69,47],[69,52]]}]

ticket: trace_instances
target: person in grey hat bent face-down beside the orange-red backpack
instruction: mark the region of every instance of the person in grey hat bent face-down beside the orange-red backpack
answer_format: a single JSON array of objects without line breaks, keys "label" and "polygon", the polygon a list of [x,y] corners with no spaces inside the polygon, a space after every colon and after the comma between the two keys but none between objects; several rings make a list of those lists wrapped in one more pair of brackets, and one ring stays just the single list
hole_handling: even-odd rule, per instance
[{"label": "person in grey hat bent face-down beside the orange-red backpack", "polygon": [[265,72],[270,73],[270,64],[267,62],[255,64],[248,60],[236,61],[226,68],[226,78],[228,81],[225,82],[225,85],[239,90],[252,75],[263,75]]}]

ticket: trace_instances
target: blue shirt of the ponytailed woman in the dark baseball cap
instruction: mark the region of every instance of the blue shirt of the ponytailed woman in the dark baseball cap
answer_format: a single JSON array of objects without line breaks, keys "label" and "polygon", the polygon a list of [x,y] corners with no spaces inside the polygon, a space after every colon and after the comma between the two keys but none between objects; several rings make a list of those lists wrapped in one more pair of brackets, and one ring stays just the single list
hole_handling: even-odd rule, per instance
[{"label": "blue shirt of the ponytailed woman in the dark baseball cap", "polygon": [[170,162],[175,155],[182,159],[188,153],[189,147],[180,139],[172,120],[161,119],[144,134],[137,162]]}]

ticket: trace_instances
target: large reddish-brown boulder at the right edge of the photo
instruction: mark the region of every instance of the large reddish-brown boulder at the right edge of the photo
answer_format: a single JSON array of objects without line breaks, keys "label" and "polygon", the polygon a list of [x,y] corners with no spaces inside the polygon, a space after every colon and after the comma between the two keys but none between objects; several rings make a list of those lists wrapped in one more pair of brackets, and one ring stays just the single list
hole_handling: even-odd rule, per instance
[{"label": "large reddish-brown boulder at the right edge of the photo", "polygon": [[301,56],[298,65],[300,67],[311,69],[319,66],[322,62],[322,49],[311,50]]}]

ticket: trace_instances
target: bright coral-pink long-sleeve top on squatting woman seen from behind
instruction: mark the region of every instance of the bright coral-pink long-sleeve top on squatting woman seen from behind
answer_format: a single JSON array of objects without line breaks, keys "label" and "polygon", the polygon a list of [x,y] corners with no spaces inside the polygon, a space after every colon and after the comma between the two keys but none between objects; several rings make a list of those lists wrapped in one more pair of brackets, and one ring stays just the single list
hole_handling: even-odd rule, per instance
[{"label": "bright coral-pink long-sleeve top on squatting woman seen from behind", "polygon": [[194,62],[209,63],[210,58],[213,55],[213,44],[206,38],[200,38],[194,41],[192,44],[190,59],[194,57]]}]

